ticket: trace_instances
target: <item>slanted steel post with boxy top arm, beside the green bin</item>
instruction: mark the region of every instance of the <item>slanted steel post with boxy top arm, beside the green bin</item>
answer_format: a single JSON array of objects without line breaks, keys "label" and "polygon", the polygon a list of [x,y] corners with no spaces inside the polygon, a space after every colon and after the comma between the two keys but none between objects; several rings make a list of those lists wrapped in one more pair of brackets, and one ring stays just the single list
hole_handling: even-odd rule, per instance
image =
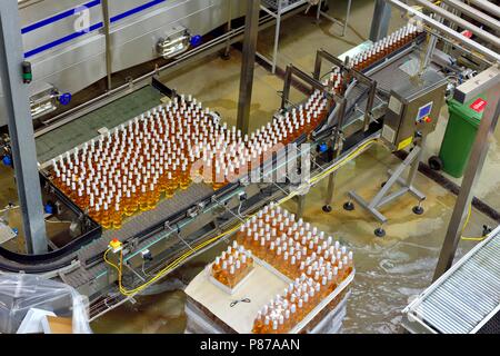
[{"label": "slanted steel post with boxy top arm, beside the green bin", "polygon": [[458,244],[462,237],[469,209],[471,209],[473,188],[476,187],[484,165],[490,142],[493,141],[494,129],[500,116],[500,69],[490,67],[474,78],[456,88],[454,98],[464,103],[479,93],[488,100],[478,135],[476,136],[460,192],[451,215],[450,225],[444,237],[433,280],[437,280],[453,264]]}]

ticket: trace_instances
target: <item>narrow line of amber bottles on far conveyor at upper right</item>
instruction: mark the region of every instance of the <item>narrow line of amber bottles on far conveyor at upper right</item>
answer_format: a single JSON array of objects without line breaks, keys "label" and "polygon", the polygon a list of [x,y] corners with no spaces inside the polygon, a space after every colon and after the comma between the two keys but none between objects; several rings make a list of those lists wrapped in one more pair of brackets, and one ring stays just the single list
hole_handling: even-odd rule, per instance
[{"label": "narrow line of amber bottles on far conveyor at upper right", "polygon": [[[383,39],[374,42],[364,51],[349,59],[349,65],[358,71],[371,67],[373,63],[386,58],[388,55],[397,51],[408,42],[411,42],[422,32],[416,24],[409,23],[406,27],[394,31]],[[333,89],[336,93],[341,93],[343,78],[339,67],[333,67],[330,76],[323,81],[324,86]]]}]

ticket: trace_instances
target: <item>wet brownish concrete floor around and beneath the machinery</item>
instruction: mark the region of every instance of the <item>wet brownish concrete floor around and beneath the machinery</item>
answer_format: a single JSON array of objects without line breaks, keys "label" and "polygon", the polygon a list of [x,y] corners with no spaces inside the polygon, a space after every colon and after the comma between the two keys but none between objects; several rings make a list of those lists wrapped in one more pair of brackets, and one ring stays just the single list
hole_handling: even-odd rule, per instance
[{"label": "wet brownish concrete floor around and beneath the machinery", "polygon": [[[330,13],[342,17],[344,1],[336,2]],[[330,6],[332,8],[332,6]],[[279,65],[293,62],[304,71],[312,71],[316,50],[324,48],[340,55],[368,38],[371,22],[372,1],[353,2],[351,22],[344,38],[339,36],[340,27],[322,20],[318,26],[313,18],[299,14],[284,21],[280,42]],[[393,13],[391,28],[398,28],[403,20]],[[273,28],[259,36],[259,50],[270,52]],[[191,93],[221,113],[228,123],[236,123],[239,90],[240,52],[232,50],[230,60],[211,56],[190,68],[173,73],[162,80],[179,92]],[[267,122],[281,102],[278,91],[281,79],[256,65],[256,80],[251,105],[250,129]],[[291,100],[299,101],[304,96],[292,90]],[[447,123],[443,110],[438,130],[428,140],[426,156],[436,155]],[[498,167],[500,149],[499,132],[491,145],[484,172],[477,187],[477,195],[493,208],[500,208]],[[374,219],[361,208],[344,211],[342,204],[349,190],[356,190],[364,198],[372,197],[380,184],[387,179],[387,169],[394,168],[400,160],[383,147],[372,147],[338,172],[333,211],[321,210],[327,191],[327,179],[312,188],[308,195],[304,220],[318,226],[327,234],[339,238],[354,251],[357,275],[353,293],[348,303],[348,315],[342,333],[398,333],[401,310],[409,300],[431,283],[440,248],[448,227],[456,197],[422,175],[417,176],[416,186],[427,195],[426,212],[417,216],[411,211],[416,205],[411,196],[403,196],[382,209],[389,218],[387,236],[377,238]],[[2,168],[4,169],[4,168]],[[12,181],[0,171],[2,187],[0,206],[16,199]],[[460,182],[460,180],[457,180]],[[296,204],[287,202],[293,211]],[[494,221],[473,210],[466,236],[477,236],[482,225],[494,226]],[[462,240],[457,258],[466,254],[476,243]],[[140,296],[136,304],[126,304],[91,324],[96,333],[183,333],[186,328],[184,299],[182,286],[187,285],[204,265],[223,248],[224,243],[198,256],[180,267],[160,285],[164,291]],[[158,289],[158,287],[156,287]]]}]

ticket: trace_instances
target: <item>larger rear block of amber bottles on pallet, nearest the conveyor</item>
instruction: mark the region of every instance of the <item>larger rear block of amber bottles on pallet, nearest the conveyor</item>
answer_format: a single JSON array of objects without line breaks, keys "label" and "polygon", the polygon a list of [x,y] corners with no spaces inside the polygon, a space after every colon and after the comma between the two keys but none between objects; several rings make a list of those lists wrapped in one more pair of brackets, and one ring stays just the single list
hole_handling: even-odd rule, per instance
[{"label": "larger rear block of amber bottles on pallet, nearest the conveyor", "polygon": [[241,226],[238,244],[290,279],[322,283],[347,277],[353,256],[339,241],[281,207],[268,206]]}]

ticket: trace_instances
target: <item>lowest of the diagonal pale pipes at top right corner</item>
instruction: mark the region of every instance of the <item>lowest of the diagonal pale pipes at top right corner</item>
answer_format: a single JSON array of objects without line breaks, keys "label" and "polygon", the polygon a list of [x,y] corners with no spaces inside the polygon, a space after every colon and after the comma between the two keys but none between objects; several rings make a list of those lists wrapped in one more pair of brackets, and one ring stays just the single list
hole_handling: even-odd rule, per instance
[{"label": "lowest of the diagonal pale pipes at top right corner", "polygon": [[422,12],[413,9],[412,7],[406,4],[404,2],[401,2],[399,0],[387,0],[388,2],[390,2],[391,4],[393,4],[394,7],[404,10],[409,13],[412,13],[414,16],[417,16],[419,19],[421,19],[424,23],[427,23],[428,26],[448,34],[449,37],[453,38],[454,40],[461,42],[464,47],[477,51],[483,56],[486,56],[487,58],[493,60],[494,62],[500,61],[500,55],[492,51],[491,49],[479,44],[478,42],[460,34],[457,31],[451,30],[450,28],[446,27],[442,23],[439,23],[438,21],[436,21],[434,19],[431,19],[430,17],[423,14]]}]

